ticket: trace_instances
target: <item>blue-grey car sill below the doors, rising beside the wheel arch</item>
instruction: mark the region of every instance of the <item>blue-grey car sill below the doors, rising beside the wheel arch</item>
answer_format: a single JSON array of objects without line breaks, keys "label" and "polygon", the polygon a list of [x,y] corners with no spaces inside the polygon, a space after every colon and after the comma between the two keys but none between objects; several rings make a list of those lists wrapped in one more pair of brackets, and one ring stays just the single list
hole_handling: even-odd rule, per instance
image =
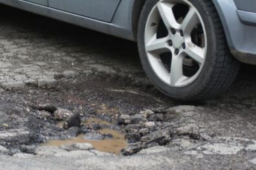
[{"label": "blue-grey car sill below the doors, rising beside the wheel arch", "polygon": [[119,8],[115,12],[111,23],[99,21],[85,16],[72,14],[63,10],[49,8],[35,3],[30,3],[23,0],[0,0],[0,3],[8,6],[13,6],[22,10],[27,10],[41,16],[51,17],[67,23],[72,23],[80,27],[89,28],[110,34],[112,36],[122,37],[128,40],[134,40],[132,31],[132,8],[136,0],[121,1]]}]

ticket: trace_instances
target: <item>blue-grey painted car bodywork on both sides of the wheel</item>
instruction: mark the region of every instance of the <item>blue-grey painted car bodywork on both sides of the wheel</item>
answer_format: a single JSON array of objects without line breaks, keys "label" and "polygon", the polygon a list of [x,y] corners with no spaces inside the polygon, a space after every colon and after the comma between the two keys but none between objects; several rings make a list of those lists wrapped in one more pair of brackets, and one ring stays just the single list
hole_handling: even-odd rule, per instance
[{"label": "blue-grey painted car bodywork on both sides of the wheel", "polygon": [[[95,9],[87,12],[74,11],[75,6],[73,5],[81,5],[82,3],[82,0],[76,1],[81,2],[76,4],[73,1],[72,5],[69,6],[67,0],[49,0],[49,4],[54,8],[47,6],[46,0],[0,0],[0,3],[136,41],[137,23],[134,21],[138,21],[139,17],[136,8],[140,8],[141,3],[144,3],[145,0],[121,0],[119,5],[117,5],[118,1],[115,0],[101,0],[106,3],[103,5],[104,8],[96,6],[100,0],[84,0],[84,5],[87,5],[86,2],[88,1],[90,7]],[[62,2],[64,3],[60,4]],[[213,0],[213,3],[220,14],[227,43],[233,55],[244,63],[256,64],[256,13],[254,13],[255,9],[253,8],[255,1]],[[88,9],[89,7],[85,6],[84,8]]]}]

